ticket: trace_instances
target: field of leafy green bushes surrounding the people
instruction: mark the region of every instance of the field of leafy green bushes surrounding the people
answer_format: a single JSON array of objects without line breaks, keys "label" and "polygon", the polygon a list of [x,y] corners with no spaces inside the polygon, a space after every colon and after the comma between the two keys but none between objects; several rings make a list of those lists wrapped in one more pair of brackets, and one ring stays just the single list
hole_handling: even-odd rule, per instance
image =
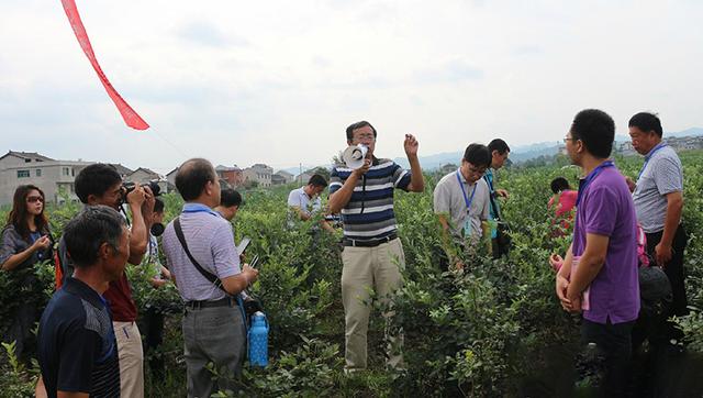
[{"label": "field of leafy green bushes surrounding the people", "polygon": [[[689,303],[694,308],[681,325],[689,341],[687,356],[672,362],[671,396],[700,395],[703,366],[703,152],[683,152],[684,215],[690,235],[685,267]],[[637,177],[641,157],[616,158],[616,165]],[[392,302],[389,328],[402,329],[406,368],[384,368],[384,323],[375,303],[369,327],[367,372],[343,373],[344,311],[339,278],[338,234],[314,233],[314,221],[298,229],[286,226],[286,198],[293,187],[245,191],[245,206],[234,220],[237,241],[249,236],[247,256],[258,255],[259,279],[250,292],[260,299],[269,323],[269,358],[265,369],[247,367],[243,389],[254,397],[454,397],[454,396],[562,396],[574,380],[572,353],[578,350],[578,317],[561,310],[554,294],[554,272],[547,258],[563,253],[568,237],[553,237],[547,209],[549,181],[566,177],[578,186],[578,168],[566,157],[550,165],[501,169],[498,186],[510,192],[502,202],[510,223],[513,250],[506,258],[491,259],[486,252],[467,258],[464,274],[442,273],[438,267],[439,231],[432,212],[437,174],[426,175],[425,192],[397,192],[399,235],[405,252],[404,287]],[[178,195],[164,196],[166,221],[182,206]],[[48,209],[54,236],[80,209],[69,203]],[[7,219],[7,209],[0,210]],[[36,269],[32,291],[14,288],[18,273],[0,273],[0,331],[19,300],[46,303],[53,290],[53,268]],[[141,313],[165,311],[165,341],[156,353],[166,372],[155,376],[146,366],[146,395],[186,396],[186,367],[180,332],[181,309],[174,286],[154,289],[147,278],[153,266],[129,268]],[[3,345],[0,352],[0,397],[33,395],[36,365],[20,364]],[[678,366],[678,367],[677,367]],[[699,367],[695,367],[699,366]],[[679,371],[677,371],[679,369]],[[588,391],[588,384],[580,385]],[[228,396],[227,391],[221,393]]]}]

